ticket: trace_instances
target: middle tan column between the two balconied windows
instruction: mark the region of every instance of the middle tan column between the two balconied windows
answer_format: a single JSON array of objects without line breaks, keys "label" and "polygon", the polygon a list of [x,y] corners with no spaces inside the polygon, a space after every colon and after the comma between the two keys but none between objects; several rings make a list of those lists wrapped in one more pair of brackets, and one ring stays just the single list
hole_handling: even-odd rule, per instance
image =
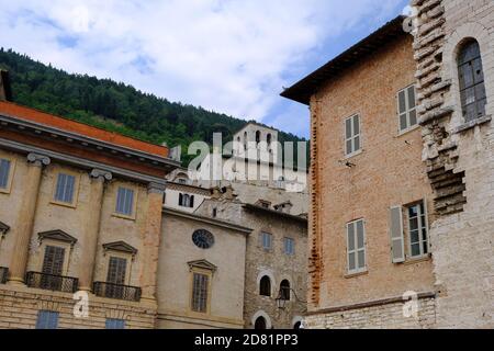
[{"label": "middle tan column between the two balconied windows", "polygon": [[104,182],[112,180],[112,173],[93,169],[90,173],[89,211],[83,229],[79,285],[81,291],[91,291],[94,273],[98,236],[100,233],[101,207],[103,204]]}]

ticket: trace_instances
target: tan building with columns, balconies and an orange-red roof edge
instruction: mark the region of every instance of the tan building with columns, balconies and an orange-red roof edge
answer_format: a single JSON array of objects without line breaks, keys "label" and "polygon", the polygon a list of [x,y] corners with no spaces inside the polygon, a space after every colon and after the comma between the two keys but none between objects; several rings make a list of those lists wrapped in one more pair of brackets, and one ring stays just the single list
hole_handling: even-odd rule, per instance
[{"label": "tan building with columns, balconies and an orange-red roof edge", "polygon": [[177,166],[165,147],[0,101],[0,327],[154,328]]}]

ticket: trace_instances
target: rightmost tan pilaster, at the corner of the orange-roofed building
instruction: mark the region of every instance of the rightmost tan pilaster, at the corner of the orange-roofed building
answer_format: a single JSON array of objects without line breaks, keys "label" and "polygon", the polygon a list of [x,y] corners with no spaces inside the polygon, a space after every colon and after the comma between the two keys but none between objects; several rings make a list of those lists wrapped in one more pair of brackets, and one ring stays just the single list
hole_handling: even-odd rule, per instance
[{"label": "rightmost tan pilaster, at the corner of the orange-roofed building", "polygon": [[143,227],[143,256],[141,286],[143,299],[156,302],[159,244],[161,238],[161,210],[166,186],[150,183],[148,186],[146,223]]}]

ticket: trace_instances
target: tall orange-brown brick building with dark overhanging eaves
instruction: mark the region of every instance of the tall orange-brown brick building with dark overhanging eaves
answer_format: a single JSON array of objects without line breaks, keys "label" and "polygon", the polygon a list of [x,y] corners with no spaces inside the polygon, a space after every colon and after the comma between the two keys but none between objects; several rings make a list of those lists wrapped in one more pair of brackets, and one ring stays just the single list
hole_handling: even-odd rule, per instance
[{"label": "tall orange-brown brick building with dark overhanging eaves", "polygon": [[[283,95],[311,105],[307,327],[429,327],[431,189],[413,37],[397,18]],[[403,295],[418,315],[406,318]]]}]

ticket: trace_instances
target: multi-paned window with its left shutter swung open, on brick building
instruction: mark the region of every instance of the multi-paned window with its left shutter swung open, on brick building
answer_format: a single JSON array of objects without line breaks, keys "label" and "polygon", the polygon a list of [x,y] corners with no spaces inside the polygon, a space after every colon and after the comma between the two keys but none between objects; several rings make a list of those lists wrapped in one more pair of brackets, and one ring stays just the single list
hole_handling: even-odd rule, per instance
[{"label": "multi-paned window with its left shutter swung open, on brick building", "polygon": [[412,258],[423,257],[429,253],[427,240],[427,216],[424,201],[408,206],[408,239],[409,256]]}]

